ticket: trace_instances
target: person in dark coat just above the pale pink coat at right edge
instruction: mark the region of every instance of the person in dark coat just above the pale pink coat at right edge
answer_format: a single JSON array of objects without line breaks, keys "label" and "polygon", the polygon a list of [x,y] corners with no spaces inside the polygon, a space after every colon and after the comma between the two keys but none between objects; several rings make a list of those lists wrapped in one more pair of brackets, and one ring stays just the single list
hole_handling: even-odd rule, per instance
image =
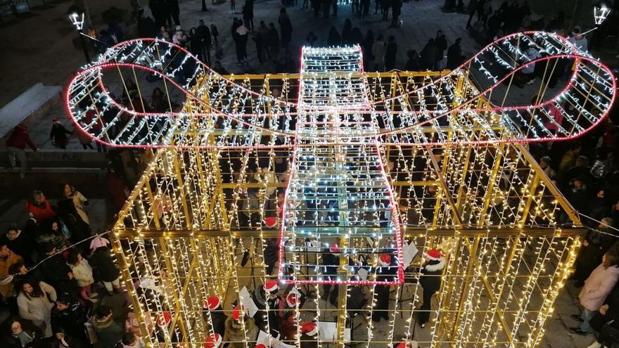
[{"label": "person in dark coat just above the pale pink coat at right edge", "polygon": [[613,220],[609,217],[601,219],[598,231],[589,230],[582,241],[582,247],[578,252],[575,261],[575,270],[571,277],[576,283],[577,288],[585,284],[585,280],[589,278],[591,272],[602,262],[602,257],[618,240],[617,236],[611,228]]}]

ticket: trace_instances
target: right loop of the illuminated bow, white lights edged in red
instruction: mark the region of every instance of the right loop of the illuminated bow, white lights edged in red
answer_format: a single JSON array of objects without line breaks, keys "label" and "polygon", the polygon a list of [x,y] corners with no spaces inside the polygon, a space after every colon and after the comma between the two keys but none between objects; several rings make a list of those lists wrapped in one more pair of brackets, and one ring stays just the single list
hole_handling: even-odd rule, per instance
[{"label": "right loop of the illuminated bow, white lights edged in red", "polygon": [[[541,85],[523,96],[519,87],[534,76]],[[494,41],[444,77],[373,104],[393,115],[379,122],[384,143],[466,145],[575,138],[606,117],[615,94],[613,74],[599,60],[559,35],[522,32]],[[436,103],[409,106],[409,98],[422,96]]]}]

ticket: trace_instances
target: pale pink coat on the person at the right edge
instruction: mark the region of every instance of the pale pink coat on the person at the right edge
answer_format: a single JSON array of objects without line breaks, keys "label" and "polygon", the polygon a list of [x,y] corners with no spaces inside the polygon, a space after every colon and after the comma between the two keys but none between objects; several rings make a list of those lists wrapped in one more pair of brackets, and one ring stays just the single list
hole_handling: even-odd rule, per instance
[{"label": "pale pink coat on the person at the right edge", "polygon": [[604,305],[604,299],[611,293],[615,283],[619,279],[619,267],[604,267],[600,264],[585,281],[585,286],[580,290],[580,304],[589,311],[597,311]]}]

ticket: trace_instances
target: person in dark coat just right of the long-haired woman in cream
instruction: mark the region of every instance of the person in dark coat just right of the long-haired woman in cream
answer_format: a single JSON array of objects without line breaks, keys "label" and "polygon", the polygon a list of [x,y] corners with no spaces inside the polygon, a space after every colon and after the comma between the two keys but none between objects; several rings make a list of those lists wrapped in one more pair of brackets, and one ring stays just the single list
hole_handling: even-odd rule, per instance
[{"label": "person in dark coat just right of the long-haired woman in cream", "polygon": [[51,309],[51,330],[54,334],[62,333],[79,340],[89,342],[84,330],[88,321],[89,309],[68,295],[58,295],[56,306]]}]

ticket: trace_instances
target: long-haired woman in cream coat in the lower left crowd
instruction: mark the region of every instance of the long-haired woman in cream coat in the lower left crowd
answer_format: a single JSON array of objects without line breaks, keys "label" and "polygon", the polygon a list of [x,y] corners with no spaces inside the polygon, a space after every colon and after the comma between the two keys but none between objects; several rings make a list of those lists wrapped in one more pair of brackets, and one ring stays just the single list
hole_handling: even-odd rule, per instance
[{"label": "long-haired woman in cream coat in the lower left crowd", "polygon": [[56,302],[56,290],[48,283],[28,279],[22,283],[17,305],[22,318],[38,326],[43,337],[51,337],[51,309]]}]

